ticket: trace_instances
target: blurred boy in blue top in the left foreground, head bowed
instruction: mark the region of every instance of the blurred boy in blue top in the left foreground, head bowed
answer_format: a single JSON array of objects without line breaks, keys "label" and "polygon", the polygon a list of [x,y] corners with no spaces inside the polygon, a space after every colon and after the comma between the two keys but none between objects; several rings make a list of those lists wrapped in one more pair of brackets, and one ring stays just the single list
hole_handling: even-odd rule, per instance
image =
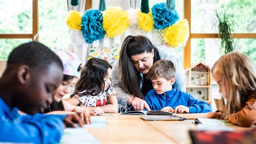
[{"label": "blurred boy in blue top in the left foreground, head bowed", "polygon": [[26,43],[11,52],[0,79],[0,143],[57,143],[65,126],[83,125],[75,114],[36,114],[51,104],[62,72],[62,61],[43,44]]}]

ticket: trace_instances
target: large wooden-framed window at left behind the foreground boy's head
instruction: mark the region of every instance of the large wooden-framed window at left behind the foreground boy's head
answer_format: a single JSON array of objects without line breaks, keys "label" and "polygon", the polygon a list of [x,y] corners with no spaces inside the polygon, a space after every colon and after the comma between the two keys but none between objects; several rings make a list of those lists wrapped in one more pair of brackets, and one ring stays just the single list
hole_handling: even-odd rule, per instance
[{"label": "large wooden-framed window at left behind the foreground boy's head", "polygon": [[[36,11],[35,17],[33,10]],[[0,13],[3,14],[0,15],[1,60],[7,60],[11,50],[19,44],[30,42],[37,31],[39,31],[39,42],[49,46],[50,49],[68,49],[69,29],[66,26],[68,8],[65,0],[0,0]],[[38,25],[39,29],[35,29]]]}]

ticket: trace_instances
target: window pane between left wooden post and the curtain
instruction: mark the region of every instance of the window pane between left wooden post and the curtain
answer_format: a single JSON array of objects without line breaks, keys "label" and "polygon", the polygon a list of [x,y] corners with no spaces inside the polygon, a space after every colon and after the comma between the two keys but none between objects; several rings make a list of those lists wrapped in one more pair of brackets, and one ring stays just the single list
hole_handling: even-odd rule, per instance
[{"label": "window pane between left wooden post and the curtain", "polygon": [[50,49],[68,49],[69,28],[66,25],[68,5],[65,0],[38,1],[39,42]]}]

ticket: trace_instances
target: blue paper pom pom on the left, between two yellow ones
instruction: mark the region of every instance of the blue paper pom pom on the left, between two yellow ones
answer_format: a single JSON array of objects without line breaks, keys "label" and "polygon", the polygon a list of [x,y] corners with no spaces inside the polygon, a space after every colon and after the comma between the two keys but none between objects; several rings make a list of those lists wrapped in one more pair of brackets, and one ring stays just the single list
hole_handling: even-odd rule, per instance
[{"label": "blue paper pom pom on the left, between two yellow ones", "polygon": [[102,27],[103,17],[99,10],[87,10],[81,22],[82,32],[86,43],[92,43],[95,40],[102,39],[105,31]]}]

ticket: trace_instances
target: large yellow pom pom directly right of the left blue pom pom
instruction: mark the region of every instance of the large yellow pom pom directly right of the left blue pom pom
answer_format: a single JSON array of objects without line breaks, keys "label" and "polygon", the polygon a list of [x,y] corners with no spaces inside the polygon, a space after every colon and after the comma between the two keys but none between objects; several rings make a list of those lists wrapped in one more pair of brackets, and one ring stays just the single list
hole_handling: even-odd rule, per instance
[{"label": "large yellow pom pom directly right of the left blue pom pom", "polygon": [[114,38],[124,33],[128,26],[128,12],[119,6],[109,6],[103,11],[103,29],[107,37]]}]

